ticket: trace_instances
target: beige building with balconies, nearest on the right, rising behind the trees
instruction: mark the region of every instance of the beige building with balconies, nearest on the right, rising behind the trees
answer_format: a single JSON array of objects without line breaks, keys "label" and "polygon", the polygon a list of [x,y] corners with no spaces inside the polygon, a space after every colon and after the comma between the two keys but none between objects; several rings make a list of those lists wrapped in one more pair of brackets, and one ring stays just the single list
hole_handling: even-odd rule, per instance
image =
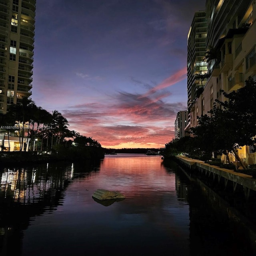
[{"label": "beige building with balconies, nearest on the right, rising behind the trees", "polygon": [[[221,90],[231,92],[242,88],[249,76],[256,80],[256,1],[207,0],[206,17],[206,49],[213,47],[220,59],[208,62],[210,77],[191,104],[190,128],[198,125],[198,116],[208,114],[215,99],[226,99]],[[248,146],[238,153],[247,164],[256,162]]]}]

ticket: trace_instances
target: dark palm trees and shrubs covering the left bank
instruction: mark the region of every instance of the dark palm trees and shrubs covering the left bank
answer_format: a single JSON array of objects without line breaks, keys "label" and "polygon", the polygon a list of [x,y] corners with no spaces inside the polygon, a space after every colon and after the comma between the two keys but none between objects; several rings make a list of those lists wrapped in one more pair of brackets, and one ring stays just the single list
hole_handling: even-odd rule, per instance
[{"label": "dark palm trees and shrubs covering the left bank", "polygon": [[[51,114],[22,98],[20,105],[13,104],[9,112],[0,114],[1,166],[104,158],[104,148],[97,140],[71,131],[68,126],[68,120],[57,110]],[[18,139],[16,151],[10,151],[11,138]],[[24,146],[28,139],[29,144]]]}]

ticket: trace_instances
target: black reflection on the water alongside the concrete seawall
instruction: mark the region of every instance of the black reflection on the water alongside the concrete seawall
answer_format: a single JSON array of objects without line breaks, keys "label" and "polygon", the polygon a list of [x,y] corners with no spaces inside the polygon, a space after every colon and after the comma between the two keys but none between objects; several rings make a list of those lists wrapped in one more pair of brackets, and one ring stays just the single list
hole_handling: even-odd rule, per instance
[{"label": "black reflection on the water alongside the concrete seawall", "polygon": [[256,226],[251,220],[176,163],[164,166],[167,171],[176,166],[177,193],[187,196],[191,255],[256,255]]}]

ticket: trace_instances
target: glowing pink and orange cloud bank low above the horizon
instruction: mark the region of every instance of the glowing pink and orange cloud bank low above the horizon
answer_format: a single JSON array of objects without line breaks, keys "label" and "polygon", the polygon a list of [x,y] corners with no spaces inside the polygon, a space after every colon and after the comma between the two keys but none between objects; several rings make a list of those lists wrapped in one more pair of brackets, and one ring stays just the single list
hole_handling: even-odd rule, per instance
[{"label": "glowing pink and orange cloud bank low above the horizon", "polygon": [[174,137],[174,120],[182,103],[119,92],[109,102],[79,104],[63,110],[70,129],[98,140],[106,148],[160,148]]}]

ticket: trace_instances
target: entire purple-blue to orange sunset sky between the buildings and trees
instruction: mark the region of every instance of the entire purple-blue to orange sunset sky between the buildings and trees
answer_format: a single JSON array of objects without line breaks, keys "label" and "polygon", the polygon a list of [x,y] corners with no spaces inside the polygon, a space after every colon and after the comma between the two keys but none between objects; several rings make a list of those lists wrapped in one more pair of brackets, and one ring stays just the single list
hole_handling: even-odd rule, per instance
[{"label": "entire purple-blue to orange sunset sky between the buildings and trees", "polygon": [[106,148],[160,148],[187,101],[187,34],[204,0],[41,0],[32,100]]}]

